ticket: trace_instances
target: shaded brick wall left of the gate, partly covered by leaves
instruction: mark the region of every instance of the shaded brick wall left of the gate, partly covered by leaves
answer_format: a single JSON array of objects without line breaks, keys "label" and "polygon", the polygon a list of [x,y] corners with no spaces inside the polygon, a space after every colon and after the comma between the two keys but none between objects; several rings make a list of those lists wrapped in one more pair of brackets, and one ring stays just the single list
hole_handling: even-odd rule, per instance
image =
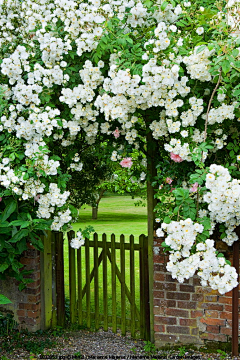
[{"label": "shaded brick wall left of the gate, partly covered by leaves", "polygon": [[28,245],[23,253],[21,263],[24,269],[33,270],[28,278],[33,280],[23,291],[18,290],[19,282],[14,278],[0,281],[0,293],[7,296],[12,304],[0,306],[3,313],[10,312],[20,328],[29,331],[40,329],[41,293],[40,293],[40,252]]}]

